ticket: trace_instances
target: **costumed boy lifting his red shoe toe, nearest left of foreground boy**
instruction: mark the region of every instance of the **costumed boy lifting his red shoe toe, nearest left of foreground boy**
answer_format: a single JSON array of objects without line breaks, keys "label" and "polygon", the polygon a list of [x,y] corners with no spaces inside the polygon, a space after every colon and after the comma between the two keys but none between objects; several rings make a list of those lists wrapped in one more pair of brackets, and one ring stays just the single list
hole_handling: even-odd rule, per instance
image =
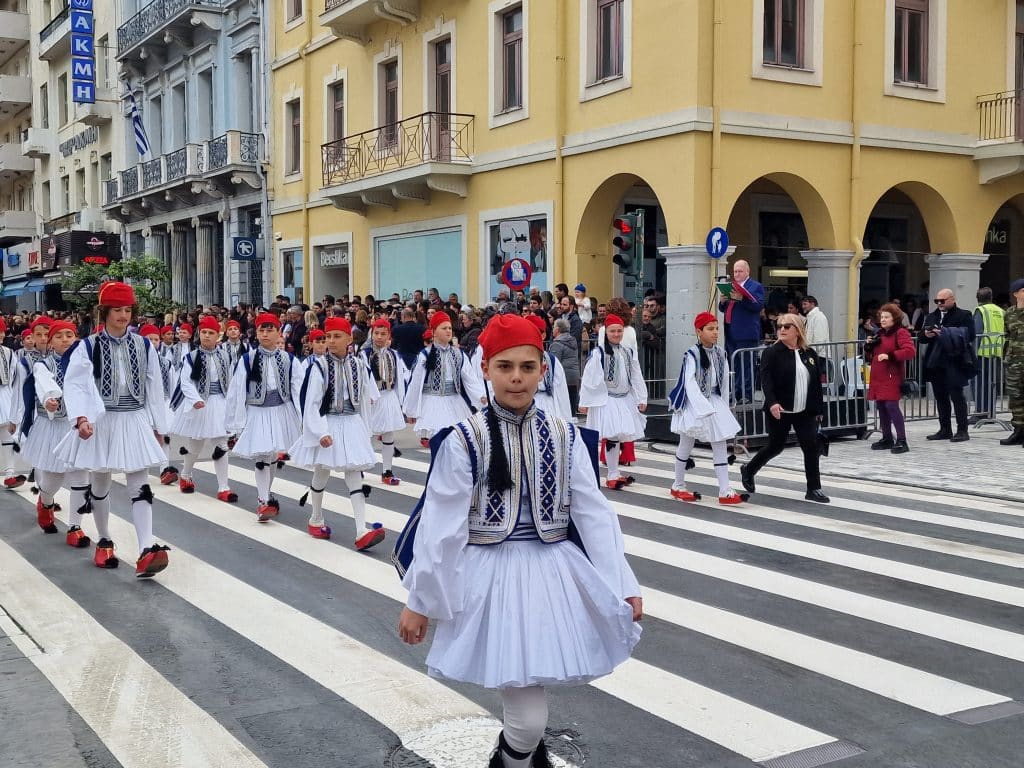
[{"label": "costumed boy lifting his red shoe toe, nearest left of foreground boy", "polygon": [[[309,494],[312,514],[307,530],[313,539],[330,539],[331,528],[324,522],[324,492],[331,472],[344,472],[348,500],[352,504],[355,549],[367,550],[384,541],[384,526],[375,522],[367,529],[367,497],[370,486],[362,484],[362,470],[377,464],[370,430],[364,414],[380,396],[370,378],[370,370],[359,354],[349,353],[352,327],[344,317],[328,317],[327,356],[310,356],[301,388],[302,436],[289,454],[300,467],[311,469]],[[305,506],[303,494],[299,506]]]}]

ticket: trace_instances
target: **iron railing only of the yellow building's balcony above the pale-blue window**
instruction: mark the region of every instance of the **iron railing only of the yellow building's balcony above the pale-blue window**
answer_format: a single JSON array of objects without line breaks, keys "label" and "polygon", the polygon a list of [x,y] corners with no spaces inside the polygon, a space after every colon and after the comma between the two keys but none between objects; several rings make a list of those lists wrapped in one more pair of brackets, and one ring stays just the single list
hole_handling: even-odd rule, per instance
[{"label": "iron railing only of the yellow building's balcony above the pale-blue window", "polygon": [[330,141],[321,152],[324,186],[426,163],[468,165],[473,158],[473,116],[425,112]]}]

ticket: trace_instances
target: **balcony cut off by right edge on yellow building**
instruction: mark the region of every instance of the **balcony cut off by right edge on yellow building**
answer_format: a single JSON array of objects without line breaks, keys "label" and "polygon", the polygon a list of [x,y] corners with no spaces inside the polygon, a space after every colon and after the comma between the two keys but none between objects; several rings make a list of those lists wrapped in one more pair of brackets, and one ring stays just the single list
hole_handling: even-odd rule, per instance
[{"label": "balcony cut off by right edge on yellow building", "polygon": [[983,184],[1024,173],[1024,91],[978,96],[974,160]]}]

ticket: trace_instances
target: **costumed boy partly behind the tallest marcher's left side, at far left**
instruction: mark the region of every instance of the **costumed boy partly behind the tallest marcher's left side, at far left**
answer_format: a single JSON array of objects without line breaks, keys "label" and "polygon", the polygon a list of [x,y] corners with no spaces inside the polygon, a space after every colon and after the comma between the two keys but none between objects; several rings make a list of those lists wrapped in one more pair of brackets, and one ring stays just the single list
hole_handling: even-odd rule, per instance
[{"label": "costumed boy partly behind the tallest marcher's left side, at far left", "polygon": [[82,515],[90,512],[87,493],[89,473],[84,470],[69,471],[56,457],[57,444],[71,431],[68,412],[63,404],[63,381],[68,367],[66,352],[75,344],[78,329],[75,324],[56,321],[50,326],[48,346],[50,354],[33,367],[32,401],[26,403],[26,417],[22,421],[22,456],[36,471],[36,519],[46,534],[56,534],[53,513],[57,505],[54,495],[62,484],[71,489],[71,510],[68,514],[69,547],[84,549],[91,544],[82,530]]}]

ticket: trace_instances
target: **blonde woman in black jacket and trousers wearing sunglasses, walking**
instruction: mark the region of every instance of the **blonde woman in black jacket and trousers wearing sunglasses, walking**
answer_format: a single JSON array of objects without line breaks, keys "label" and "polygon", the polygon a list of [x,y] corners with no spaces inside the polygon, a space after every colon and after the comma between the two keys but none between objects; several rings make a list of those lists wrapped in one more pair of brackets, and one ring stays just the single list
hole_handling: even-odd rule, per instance
[{"label": "blonde woman in black jacket and trousers wearing sunglasses, walking", "polygon": [[775,322],[778,341],[761,354],[761,389],[765,395],[768,444],[739,469],[743,487],[754,493],[754,476],[785,447],[790,429],[804,452],[804,475],[807,477],[808,501],[828,503],[821,493],[818,471],[818,423],[824,414],[821,396],[821,375],[824,360],[807,346],[804,318],[797,314],[781,314]]}]

